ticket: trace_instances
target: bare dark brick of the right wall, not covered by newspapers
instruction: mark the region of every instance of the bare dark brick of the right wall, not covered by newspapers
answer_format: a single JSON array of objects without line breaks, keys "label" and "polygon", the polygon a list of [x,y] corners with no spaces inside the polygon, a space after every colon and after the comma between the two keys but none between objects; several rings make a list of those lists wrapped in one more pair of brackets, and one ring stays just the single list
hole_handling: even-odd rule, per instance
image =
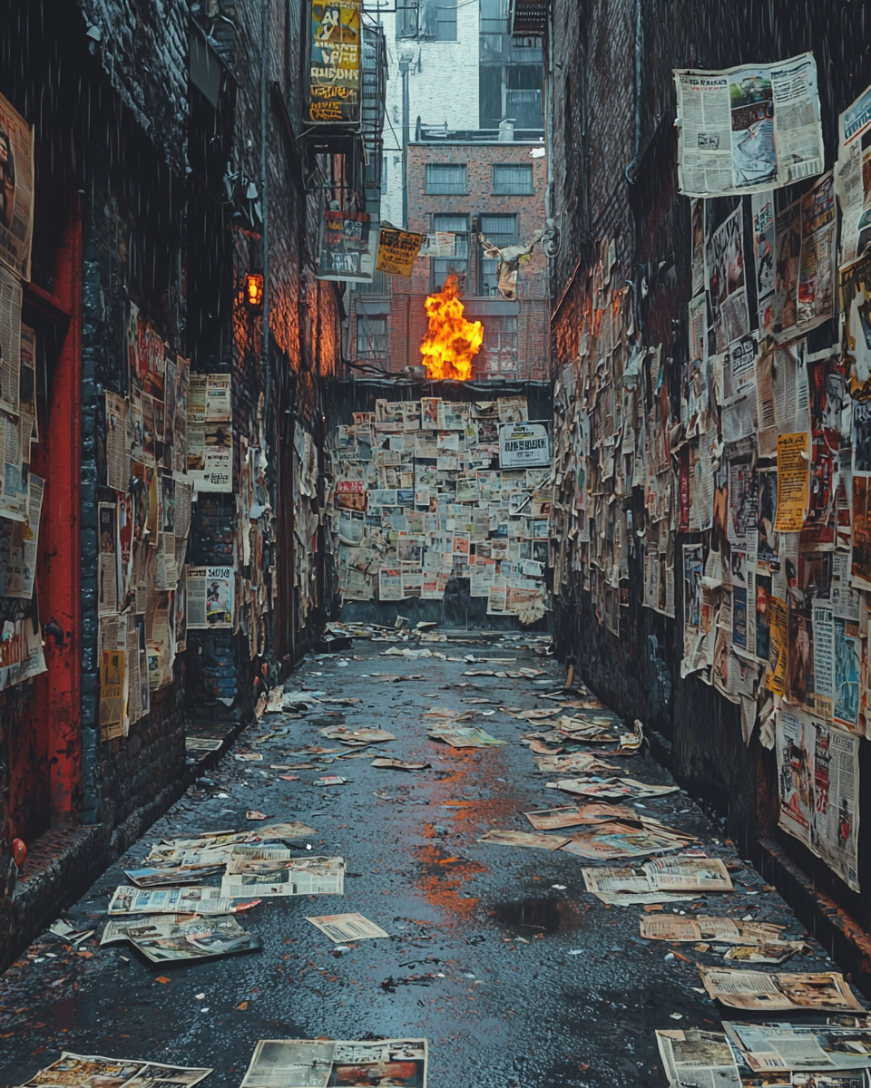
[{"label": "bare dark brick of the right wall, not covered by newspapers", "polygon": [[[721,5],[715,13],[695,0],[593,0],[582,8],[574,0],[553,0],[552,27],[553,191],[562,225],[553,267],[554,373],[578,357],[592,316],[593,269],[612,238],[618,281],[631,284],[641,342],[662,345],[679,373],[687,342],[689,202],[677,193],[672,69],[765,63],[813,50],[829,169],[836,154],[837,114],[871,83],[860,9],[824,0],[796,18],[794,5],[759,0]],[[806,187],[780,190],[778,208]],[[830,323],[810,334],[809,349],[836,341]],[[634,523],[642,524],[640,492],[626,502]],[[683,540],[677,537],[678,548]],[[736,706],[698,678],[680,678],[680,605],[675,620],[641,607],[642,583],[636,551],[628,607],[621,610],[616,635],[599,622],[579,574],[569,572],[555,615],[559,644],[581,663],[584,678],[601,697],[627,718],[642,719],[662,739],[661,751],[671,753],[679,781],[727,816],[749,851],[755,840],[776,833],[773,753],[756,741],[744,744]],[[867,750],[863,743],[860,824],[866,827],[871,817]],[[847,893],[793,840],[780,841],[813,874],[818,888],[868,924],[867,903]]]}]

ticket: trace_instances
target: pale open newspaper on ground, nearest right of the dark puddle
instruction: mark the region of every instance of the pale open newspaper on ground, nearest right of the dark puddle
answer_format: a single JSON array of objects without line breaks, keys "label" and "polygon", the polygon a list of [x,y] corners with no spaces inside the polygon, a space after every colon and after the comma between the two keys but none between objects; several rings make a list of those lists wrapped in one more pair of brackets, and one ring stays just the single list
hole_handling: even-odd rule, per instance
[{"label": "pale open newspaper on ground, nearest right of the dark puddle", "polygon": [[631,868],[603,866],[581,869],[587,891],[603,903],[635,906],[696,899],[701,893],[732,891],[726,866],[719,857],[658,857]]}]

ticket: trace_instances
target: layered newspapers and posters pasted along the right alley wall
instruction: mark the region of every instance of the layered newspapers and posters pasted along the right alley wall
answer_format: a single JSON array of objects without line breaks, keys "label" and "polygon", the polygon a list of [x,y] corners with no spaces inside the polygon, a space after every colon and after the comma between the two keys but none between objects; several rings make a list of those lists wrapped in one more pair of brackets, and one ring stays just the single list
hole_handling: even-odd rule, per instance
[{"label": "layered newspapers and posters pasted along the right alley wall", "polygon": [[[776,821],[858,892],[871,877],[871,90],[842,113],[824,171],[811,54],[675,76],[678,136],[651,141],[630,208],[678,252],[635,276],[625,237],[602,238],[554,321],[557,631],[624,713],[666,734],[691,788],[756,834]],[[781,76],[806,99],[798,135]],[[687,138],[679,111],[698,121],[686,102],[700,83],[729,95],[726,160],[722,143],[714,162],[697,150],[716,141]],[[778,150],[750,162],[739,137],[757,125],[765,144],[770,122]]]}]

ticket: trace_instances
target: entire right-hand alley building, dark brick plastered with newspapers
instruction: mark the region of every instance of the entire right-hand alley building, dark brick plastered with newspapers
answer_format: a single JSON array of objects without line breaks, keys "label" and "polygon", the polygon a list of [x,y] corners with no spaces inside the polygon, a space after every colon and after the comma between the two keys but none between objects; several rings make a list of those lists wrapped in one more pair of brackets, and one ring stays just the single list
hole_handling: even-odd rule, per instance
[{"label": "entire right-hand alley building, dark brick plastered with newspapers", "polygon": [[[866,512],[849,497],[856,436],[843,420],[825,421],[835,390],[849,387],[858,398],[849,404],[842,394],[848,412],[867,397],[855,372],[849,376],[851,284],[867,272],[838,284],[834,255],[814,265],[818,309],[798,327],[788,318],[786,231],[802,198],[827,201],[830,226],[837,217],[827,172],[838,163],[838,116],[871,83],[859,10],[820,3],[800,26],[787,9],[752,0],[707,22],[691,4],[659,0],[582,8],[516,0],[514,10],[522,34],[540,30],[550,16],[549,153],[561,226],[551,270],[559,646],[600,697],[645,724],[682,786],[800,903],[833,954],[854,941],[845,959],[867,985],[867,959],[864,966],[856,959],[867,938],[850,937],[871,920],[871,749],[860,679],[867,605],[861,536],[852,536]],[[809,50],[812,60],[802,55]],[[682,195],[674,70],[783,67],[789,58],[808,72],[815,62],[820,72],[824,153],[803,180],[772,180],[762,197]],[[749,83],[735,84],[736,98],[760,94],[757,76],[752,70]],[[772,279],[786,300],[776,335],[763,305],[769,227],[777,239]],[[727,232],[737,257],[726,275],[716,255]],[[724,325],[721,305],[738,280],[747,297],[734,327],[753,363],[740,390],[740,341]],[[781,391],[790,375],[802,382],[807,374],[807,416],[787,419],[782,407],[770,413],[772,361]],[[802,504],[799,489],[787,526],[772,487],[786,471],[790,434],[799,444],[812,435],[813,452],[797,470],[799,480],[810,477],[810,497]],[[826,448],[833,458],[841,452],[841,468],[826,460]],[[834,712],[824,669],[832,615]],[[808,678],[813,632],[815,694]],[[835,830],[825,820],[841,750],[849,783],[842,777],[836,788]],[[808,778],[810,767],[818,770]],[[795,815],[799,793],[808,799],[803,816]]]}]

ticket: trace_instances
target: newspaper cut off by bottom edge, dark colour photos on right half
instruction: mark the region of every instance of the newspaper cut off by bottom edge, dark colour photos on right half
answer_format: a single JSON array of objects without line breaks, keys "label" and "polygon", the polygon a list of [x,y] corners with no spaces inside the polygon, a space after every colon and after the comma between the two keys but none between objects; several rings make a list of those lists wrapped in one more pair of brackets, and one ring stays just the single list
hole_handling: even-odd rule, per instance
[{"label": "newspaper cut off by bottom edge, dark colour photos on right half", "polygon": [[261,1039],[242,1088],[404,1085],[427,1088],[427,1040]]}]

